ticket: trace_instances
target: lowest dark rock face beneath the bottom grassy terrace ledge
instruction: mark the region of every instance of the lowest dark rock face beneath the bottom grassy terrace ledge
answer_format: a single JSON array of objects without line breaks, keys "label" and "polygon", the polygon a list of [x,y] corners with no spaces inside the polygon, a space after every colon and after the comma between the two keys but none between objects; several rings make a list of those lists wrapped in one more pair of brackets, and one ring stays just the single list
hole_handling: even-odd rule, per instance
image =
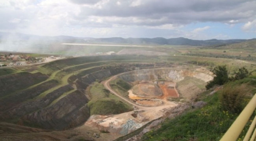
[{"label": "lowest dark rock face beneath the bottom grassy terrace ledge", "polygon": [[78,90],[68,94],[57,103],[24,117],[45,129],[63,130],[79,125],[89,118],[88,99]]}]

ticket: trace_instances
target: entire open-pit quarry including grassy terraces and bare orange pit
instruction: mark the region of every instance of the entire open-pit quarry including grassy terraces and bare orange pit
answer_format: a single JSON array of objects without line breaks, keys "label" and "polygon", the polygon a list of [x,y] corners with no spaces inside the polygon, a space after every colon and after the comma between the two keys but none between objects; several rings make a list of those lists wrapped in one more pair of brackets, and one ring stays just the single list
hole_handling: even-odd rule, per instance
[{"label": "entire open-pit quarry including grassy terraces and bare orange pit", "polygon": [[13,141],[112,141],[193,101],[213,79],[158,56],[85,56],[13,70],[0,76],[0,135]]}]

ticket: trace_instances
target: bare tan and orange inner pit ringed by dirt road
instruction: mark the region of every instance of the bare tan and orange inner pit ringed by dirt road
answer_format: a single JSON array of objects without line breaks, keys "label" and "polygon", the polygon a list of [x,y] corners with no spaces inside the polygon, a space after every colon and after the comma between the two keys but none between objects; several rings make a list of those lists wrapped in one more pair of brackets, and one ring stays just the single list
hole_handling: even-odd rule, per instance
[{"label": "bare tan and orange inner pit ringed by dirt road", "polygon": [[[109,83],[121,79],[132,85],[128,97],[121,96]],[[167,110],[196,98],[206,83],[213,79],[210,71],[202,68],[159,68],[124,72],[103,81],[104,87],[127,103],[134,110],[111,116],[91,116],[85,125],[122,135],[162,117]]]}]

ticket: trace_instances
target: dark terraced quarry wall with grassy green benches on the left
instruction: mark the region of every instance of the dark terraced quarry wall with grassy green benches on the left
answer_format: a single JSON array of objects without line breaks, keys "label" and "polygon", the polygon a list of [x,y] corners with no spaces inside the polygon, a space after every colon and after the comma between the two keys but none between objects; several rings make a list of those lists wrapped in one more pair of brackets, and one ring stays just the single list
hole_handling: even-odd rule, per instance
[{"label": "dark terraced quarry wall with grassy green benches on the left", "polygon": [[0,120],[43,129],[76,127],[91,116],[85,89],[95,81],[135,67],[154,67],[151,63],[136,63],[140,59],[143,57],[70,58],[38,66],[31,73],[2,75]]}]

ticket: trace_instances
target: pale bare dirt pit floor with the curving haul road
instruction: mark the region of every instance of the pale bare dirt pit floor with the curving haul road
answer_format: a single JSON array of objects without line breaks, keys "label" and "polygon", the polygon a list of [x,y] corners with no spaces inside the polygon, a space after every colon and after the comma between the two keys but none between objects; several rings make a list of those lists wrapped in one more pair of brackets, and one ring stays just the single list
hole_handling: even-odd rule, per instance
[{"label": "pale bare dirt pit floor with the curving haul road", "polygon": [[[150,96],[147,96],[147,98],[136,96],[135,94],[132,94],[130,90],[129,100],[119,95],[110,87],[109,82],[115,80],[117,76],[112,76],[109,80],[106,80],[102,83],[104,84],[104,87],[111,93],[133,105],[134,110],[111,116],[93,115],[85,123],[86,126],[97,127],[100,131],[126,135],[142,127],[148,122],[162,117],[165,111],[178,105],[172,101],[167,100],[167,97],[169,96],[178,97],[178,92],[175,89],[175,83],[164,82],[160,84],[159,87],[163,91],[163,96],[152,96],[152,99],[150,99]],[[140,84],[139,87],[143,87],[145,85],[150,84]],[[172,85],[174,88],[172,87],[172,89],[168,89],[168,85]]]}]

